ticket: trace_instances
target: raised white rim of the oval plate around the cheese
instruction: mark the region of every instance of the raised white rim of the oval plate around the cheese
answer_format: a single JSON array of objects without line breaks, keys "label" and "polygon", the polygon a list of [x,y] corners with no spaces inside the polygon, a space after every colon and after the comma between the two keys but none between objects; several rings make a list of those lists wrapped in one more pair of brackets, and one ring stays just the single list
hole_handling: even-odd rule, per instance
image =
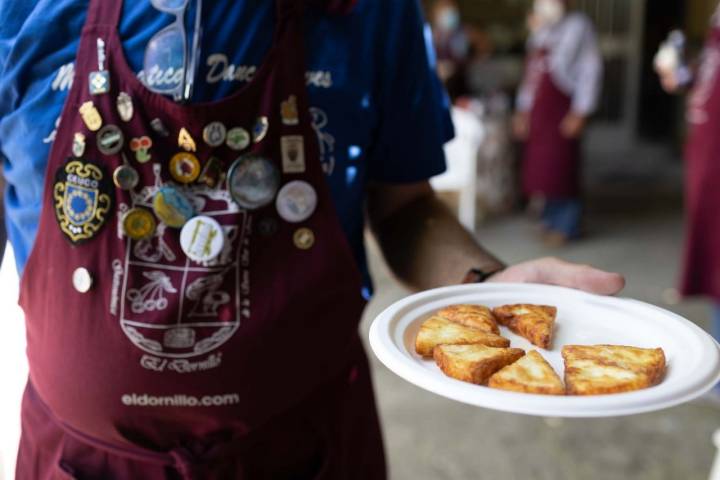
[{"label": "raised white rim of the oval plate around the cheese", "polygon": [[[481,401],[478,401],[477,385],[461,382],[446,376],[440,376],[427,370],[426,368],[423,368],[422,365],[416,362],[416,359],[409,357],[408,354],[404,353],[400,349],[393,340],[392,335],[383,335],[383,326],[385,326],[386,331],[389,332],[393,324],[393,319],[402,315],[403,311],[411,310],[416,304],[429,303],[433,299],[441,297],[460,296],[468,293],[477,293],[478,291],[492,293],[492,291],[503,291],[508,289],[514,292],[517,292],[518,290],[529,290],[535,294],[545,290],[551,291],[554,295],[572,295],[579,300],[592,300],[593,302],[599,301],[603,304],[619,305],[620,307],[633,306],[634,308],[656,310],[668,320],[678,322],[680,325],[685,327],[689,333],[694,334],[693,336],[703,345],[704,354],[711,354],[711,360],[713,361],[709,362],[701,375],[698,375],[698,378],[692,384],[692,388],[690,388],[690,386],[685,386],[679,392],[674,393],[672,397],[661,400],[653,399],[652,397],[657,396],[656,394],[654,395],[655,392],[646,389],[613,395],[555,397],[493,390],[492,396],[487,396],[484,400],[481,398]],[[693,400],[706,393],[713,387],[713,385],[720,381],[720,344],[718,344],[718,342],[702,328],[687,318],[641,300],[596,295],[557,285],[492,282],[451,285],[414,293],[395,301],[380,312],[373,319],[368,336],[371,349],[373,350],[375,356],[383,365],[385,365],[386,368],[403,378],[405,381],[419,388],[435,393],[436,395],[461,403],[516,414],[568,418],[593,418],[647,413],[680,405]],[[448,385],[451,385],[451,387],[448,387]],[[484,395],[482,397],[484,397]],[[588,399],[592,399],[593,402],[588,402]],[[542,402],[538,402],[538,400],[542,400]],[[543,407],[543,404],[558,404],[559,406],[562,406],[563,410],[557,411],[559,406],[555,406],[554,408]]]}]

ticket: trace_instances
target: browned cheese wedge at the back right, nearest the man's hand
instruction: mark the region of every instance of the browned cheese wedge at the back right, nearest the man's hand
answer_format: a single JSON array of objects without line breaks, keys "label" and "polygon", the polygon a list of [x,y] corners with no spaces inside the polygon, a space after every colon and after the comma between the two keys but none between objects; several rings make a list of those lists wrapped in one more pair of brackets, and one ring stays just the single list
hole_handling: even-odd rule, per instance
[{"label": "browned cheese wedge at the back right, nearest the man's hand", "polygon": [[557,308],[547,305],[503,305],[493,309],[495,318],[540,348],[549,349]]}]

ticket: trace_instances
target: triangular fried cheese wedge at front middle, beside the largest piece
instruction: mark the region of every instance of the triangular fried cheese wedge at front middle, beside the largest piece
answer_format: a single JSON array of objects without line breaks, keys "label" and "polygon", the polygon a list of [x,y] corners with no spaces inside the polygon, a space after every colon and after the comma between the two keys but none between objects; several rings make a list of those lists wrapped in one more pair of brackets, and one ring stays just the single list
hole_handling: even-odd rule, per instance
[{"label": "triangular fried cheese wedge at front middle, beside the largest piece", "polygon": [[537,350],[490,377],[488,386],[513,392],[564,395],[560,377]]}]

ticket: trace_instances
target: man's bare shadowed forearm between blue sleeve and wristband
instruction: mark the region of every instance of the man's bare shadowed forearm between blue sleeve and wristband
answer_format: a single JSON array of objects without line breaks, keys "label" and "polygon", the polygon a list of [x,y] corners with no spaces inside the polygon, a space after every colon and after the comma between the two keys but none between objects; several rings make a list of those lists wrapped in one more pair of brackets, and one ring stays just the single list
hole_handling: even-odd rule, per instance
[{"label": "man's bare shadowed forearm between blue sleeve and wristband", "polygon": [[432,192],[386,218],[370,218],[388,265],[412,290],[460,283],[470,268],[503,266]]}]

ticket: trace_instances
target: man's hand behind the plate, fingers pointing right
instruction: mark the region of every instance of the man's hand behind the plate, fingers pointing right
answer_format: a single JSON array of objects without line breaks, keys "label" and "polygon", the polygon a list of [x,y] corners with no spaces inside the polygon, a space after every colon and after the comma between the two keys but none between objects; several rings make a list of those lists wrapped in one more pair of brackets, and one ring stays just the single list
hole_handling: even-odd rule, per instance
[{"label": "man's hand behind the plate, fingers pointing right", "polygon": [[625,278],[588,265],[557,258],[541,258],[519,263],[490,277],[488,282],[545,283],[576,288],[599,295],[614,295],[625,287]]}]

